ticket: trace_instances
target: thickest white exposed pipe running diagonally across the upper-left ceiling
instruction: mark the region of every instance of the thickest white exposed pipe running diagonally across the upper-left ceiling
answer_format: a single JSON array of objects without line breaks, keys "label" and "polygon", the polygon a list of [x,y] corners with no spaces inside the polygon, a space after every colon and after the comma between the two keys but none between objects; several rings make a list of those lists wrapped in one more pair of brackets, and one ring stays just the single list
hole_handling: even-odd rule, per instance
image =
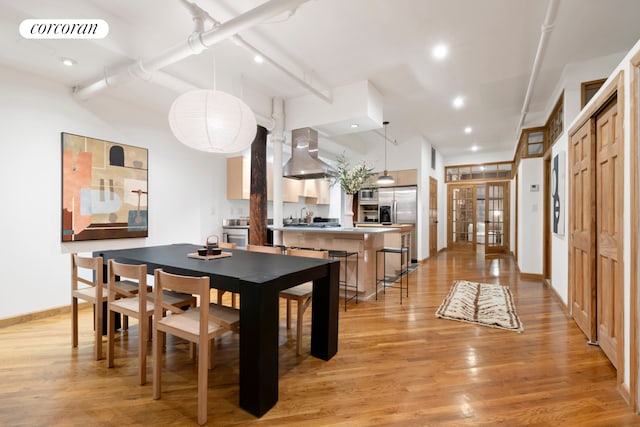
[{"label": "thickest white exposed pipe running diagonally across the upper-left ceiling", "polygon": [[198,26],[201,25],[201,22],[198,22],[196,19],[196,31],[188,37],[186,43],[181,43],[169,48],[154,58],[139,60],[126,69],[107,75],[103,79],[91,83],[88,86],[75,88],[74,92],[78,98],[84,100],[108,87],[117,86],[129,81],[132,77],[150,80],[152,72],[181,61],[191,55],[201,53],[208,47],[240,31],[253,27],[282,12],[295,9],[307,1],[309,0],[271,0],[206,32],[198,32]]}]

